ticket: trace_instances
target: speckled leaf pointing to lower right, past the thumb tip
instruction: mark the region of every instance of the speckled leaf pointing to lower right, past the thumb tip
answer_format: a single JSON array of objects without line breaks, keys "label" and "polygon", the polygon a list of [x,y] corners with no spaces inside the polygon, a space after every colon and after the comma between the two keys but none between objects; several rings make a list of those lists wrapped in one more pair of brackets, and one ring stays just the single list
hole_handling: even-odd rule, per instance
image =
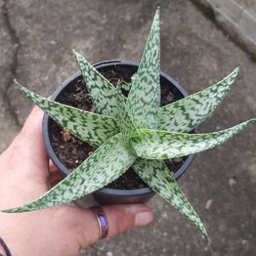
[{"label": "speckled leaf pointing to lower right, past the thumb tip", "polygon": [[138,158],[133,164],[133,169],[153,191],[191,220],[207,238],[203,223],[163,161]]}]

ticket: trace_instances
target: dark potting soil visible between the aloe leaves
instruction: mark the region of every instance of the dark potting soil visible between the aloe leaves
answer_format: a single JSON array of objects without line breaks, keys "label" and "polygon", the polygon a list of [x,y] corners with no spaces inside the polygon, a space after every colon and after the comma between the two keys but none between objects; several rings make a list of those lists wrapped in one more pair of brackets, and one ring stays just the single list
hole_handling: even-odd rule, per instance
[{"label": "dark potting soil visible between the aloe leaves", "polygon": [[[119,80],[125,83],[131,82],[131,76],[133,75],[130,69],[124,67],[122,69],[119,67],[118,70],[117,67],[113,70],[101,70],[100,73],[114,85],[117,85]],[[125,96],[129,94],[129,90],[127,91],[127,89],[125,90],[124,88],[122,88],[122,92]],[[75,79],[71,86],[67,86],[56,100],[63,104],[74,106],[75,108],[95,112],[82,76]],[[160,105],[164,106],[175,100],[177,100],[177,98],[172,92],[172,88],[170,88],[170,86],[161,86]],[[68,131],[55,123],[53,119],[49,119],[49,135],[51,146],[56,156],[66,168],[71,171],[82,164],[95,150],[88,143],[71,135]],[[172,161],[165,160],[164,162],[171,172],[176,172],[179,167],[181,167],[184,160],[185,157],[175,158],[172,159]],[[121,177],[108,184],[106,187],[111,189],[140,189],[147,187],[147,185],[135,174],[133,168],[129,168]]]}]

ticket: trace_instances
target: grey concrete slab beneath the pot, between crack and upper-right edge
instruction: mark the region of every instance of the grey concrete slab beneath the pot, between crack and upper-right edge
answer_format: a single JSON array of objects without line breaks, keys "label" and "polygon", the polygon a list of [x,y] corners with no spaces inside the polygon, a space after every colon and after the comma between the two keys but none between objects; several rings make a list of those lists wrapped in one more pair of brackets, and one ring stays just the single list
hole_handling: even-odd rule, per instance
[{"label": "grey concrete slab beneath the pot, between crack and upper-right edge", "polygon": [[[71,49],[92,63],[106,59],[139,61],[158,5],[162,15],[162,70],[179,80],[189,93],[214,84],[237,65],[241,67],[232,92],[205,121],[202,131],[225,129],[255,117],[255,63],[185,0],[9,0],[9,19],[20,40],[15,76],[28,88],[49,96],[78,70]],[[1,44],[1,53],[9,51],[8,47]],[[3,59],[0,63],[10,69]],[[7,77],[7,73],[2,76]],[[31,104],[13,87],[8,95],[18,122],[23,123]],[[13,120],[0,118],[0,129]],[[5,145],[10,137],[3,138]],[[255,145],[254,126],[224,146],[199,154],[179,181],[207,227],[211,247],[181,214],[156,196],[150,201],[156,215],[154,224],[100,241],[84,255],[255,255]]]}]

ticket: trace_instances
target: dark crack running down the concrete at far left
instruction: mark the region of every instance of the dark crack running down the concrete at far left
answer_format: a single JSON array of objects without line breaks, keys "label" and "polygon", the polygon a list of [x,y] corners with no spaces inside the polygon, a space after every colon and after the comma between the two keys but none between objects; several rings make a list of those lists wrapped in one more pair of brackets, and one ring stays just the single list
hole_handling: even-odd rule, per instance
[{"label": "dark crack running down the concrete at far left", "polygon": [[8,5],[8,0],[4,0],[3,6],[2,6],[3,18],[5,20],[7,30],[9,30],[9,35],[11,36],[11,42],[14,45],[14,51],[13,51],[11,65],[10,65],[11,75],[7,82],[7,86],[5,87],[5,90],[3,92],[3,101],[5,103],[5,106],[7,107],[7,111],[9,112],[11,117],[13,117],[13,120],[15,121],[16,125],[18,125],[18,127],[22,127],[22,124],[18,119],[18,115],[17,113],[15,113],[15,109],[13,108],[13,106],[11,106],[11,97],[9,96],[9,89],[13,84],[13,79],[15,78],[16,72],[18,69],[18,53],[20,49],[20,38],[18,37],[15,29],[11,25],[11,21],[9,18],[9,9],[7,5]]}]

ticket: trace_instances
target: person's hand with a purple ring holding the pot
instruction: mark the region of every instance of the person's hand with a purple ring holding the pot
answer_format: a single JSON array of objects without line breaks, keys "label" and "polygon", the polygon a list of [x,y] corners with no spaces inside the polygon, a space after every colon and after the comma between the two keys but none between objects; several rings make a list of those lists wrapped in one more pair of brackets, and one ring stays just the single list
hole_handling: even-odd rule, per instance
[{"label": "person's hand with a purple ring holding the pot", "polygon": [[[49,170],[42,140],[42,110],[34,108],[22,131],[0,156],[0,209],[36,199],[59,181],[61,173]],[[145,226],[153,220],[146,205],[102,207],[108,220],[108,236]],[[71,205],[5,214],[0,212],[0,237],[12,255],[79,255],[98,241],[100,230],[91,210]],[[0,253],[5,255],[0,245]]]}]

